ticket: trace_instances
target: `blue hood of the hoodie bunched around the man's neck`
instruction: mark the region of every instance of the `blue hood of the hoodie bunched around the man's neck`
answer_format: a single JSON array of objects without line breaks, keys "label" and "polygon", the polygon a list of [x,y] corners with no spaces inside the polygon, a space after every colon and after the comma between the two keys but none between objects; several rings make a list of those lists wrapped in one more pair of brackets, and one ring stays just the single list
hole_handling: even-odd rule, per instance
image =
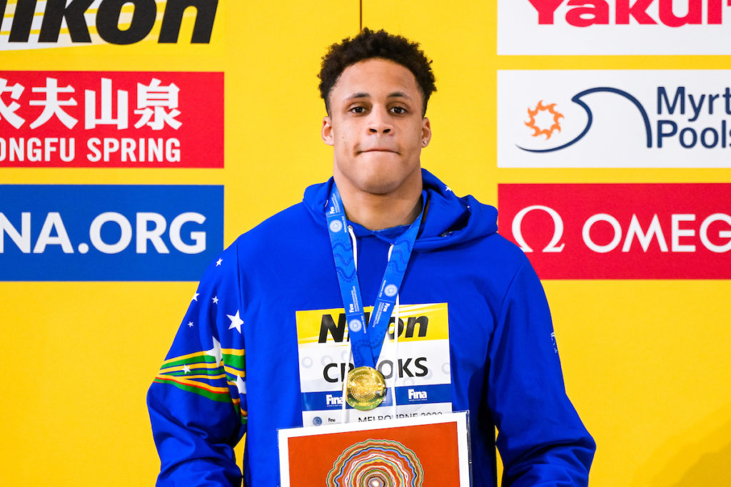
[{"label": "blue hood of the hoodie bunched around the man's neck", "polygon": [[[421,169],[421,177],[428,207],[414,244],[416,250],[458,245],[497,231],[498,212],[495,207],[482,204],[471,195],[456,196],[426,169]],[[305,190],[303,202],[312,218],[322,226],[327,226],[325,206],[334,183],[330,177],[327,182],[311,185]],[[376,231],[370,232],[376,234]]]}]

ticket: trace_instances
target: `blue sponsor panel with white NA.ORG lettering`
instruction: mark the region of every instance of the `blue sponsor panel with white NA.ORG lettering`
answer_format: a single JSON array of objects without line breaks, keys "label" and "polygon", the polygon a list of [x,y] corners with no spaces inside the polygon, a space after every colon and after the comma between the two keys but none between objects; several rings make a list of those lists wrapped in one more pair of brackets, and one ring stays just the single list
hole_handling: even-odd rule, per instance
[{"label": "blue sponsor panel with white NA.ORG lettering", "polygon": [[0,185],[0,280],[197,280],[222,217],[220,186]]}]

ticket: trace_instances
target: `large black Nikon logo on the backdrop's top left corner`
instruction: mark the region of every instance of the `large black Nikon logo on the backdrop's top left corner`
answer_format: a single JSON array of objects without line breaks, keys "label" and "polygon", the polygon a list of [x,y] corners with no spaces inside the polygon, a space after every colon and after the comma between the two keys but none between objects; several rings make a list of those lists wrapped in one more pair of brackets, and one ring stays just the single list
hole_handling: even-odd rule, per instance
[{"label": "large black Nikon logo on the backdrop's top left corner", "polygon": [[[158,4],[164,7],[156,29]],[[154,33],[161,44],[176,43],[183,17],[189,16],[194,17],[190,42],[208,44],[217,7],[218,0],[0,0],[4,16],[0,50],[100,42],[128,45]]]}]

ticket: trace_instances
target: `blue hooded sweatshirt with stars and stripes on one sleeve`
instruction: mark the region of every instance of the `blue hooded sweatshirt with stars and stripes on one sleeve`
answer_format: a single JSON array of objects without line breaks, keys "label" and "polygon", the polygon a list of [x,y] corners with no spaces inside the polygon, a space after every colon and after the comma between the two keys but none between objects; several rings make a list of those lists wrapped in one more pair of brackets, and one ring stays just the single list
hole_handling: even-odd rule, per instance
[{"label": "blue hooded sweatshirt with stars and stripes on one sleeve", "polygon": [[[332,188],[246,232],[202,277],[148,392],[159,486],[279,485],[277,429],[303,426],[295,314],[343,307],[325,221]],[[594,440],[567,398],[545,294],[526,256],[496,233],[497,211],[423,170],[424,221],[401,304],[447,303],[452,410],[469,410],[472,481],[586,486]],[[363,305],[404,227],[357,237]],[[499,434],[495,441],[495,428]]]}]

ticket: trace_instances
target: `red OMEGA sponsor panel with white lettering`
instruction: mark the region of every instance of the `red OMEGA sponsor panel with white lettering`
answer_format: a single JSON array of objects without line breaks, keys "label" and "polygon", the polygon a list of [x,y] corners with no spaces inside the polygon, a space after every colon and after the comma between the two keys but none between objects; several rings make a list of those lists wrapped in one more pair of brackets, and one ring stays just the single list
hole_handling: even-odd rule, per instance
[{"label": "red OMEGA sponsor panel with white lettering", "polygon": [[548,279],[728,278],[730,202],[720,183],[499,185],[500,231]]}]

